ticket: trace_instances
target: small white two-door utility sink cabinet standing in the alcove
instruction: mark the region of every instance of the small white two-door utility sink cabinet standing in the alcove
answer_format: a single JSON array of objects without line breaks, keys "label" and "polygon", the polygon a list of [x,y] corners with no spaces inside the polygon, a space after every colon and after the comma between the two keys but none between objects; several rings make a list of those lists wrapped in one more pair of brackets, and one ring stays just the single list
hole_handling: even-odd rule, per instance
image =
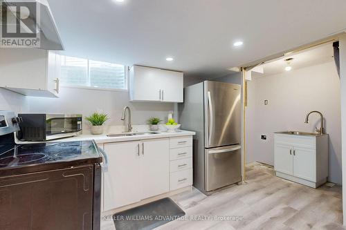
[{"label": "small white two-door utility sink cabinet standing in the alcove", "polygon": [[327,182],[328,135],[274,136],[274,169],[278,177],[313,188]]}]

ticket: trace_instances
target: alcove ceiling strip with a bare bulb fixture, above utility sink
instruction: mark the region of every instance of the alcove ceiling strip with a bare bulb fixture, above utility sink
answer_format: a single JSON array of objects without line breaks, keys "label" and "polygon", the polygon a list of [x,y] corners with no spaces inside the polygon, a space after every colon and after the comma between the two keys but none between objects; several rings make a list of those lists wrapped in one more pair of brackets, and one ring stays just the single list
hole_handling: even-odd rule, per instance
[{"label": "alcove ceiling strip with a bare bulb fixture, above utility sink", "polygon": [[324,44],[315,48],[302,50],[301,52],[295,53],[293,55],[287,55],[280,59],[275,59],[262,65],[262,67],[264,68],[264,74],[253,72],[252,75],[253,77],[262,77],[285,73],[286,70],[284,70],[284,68],[288,66],[288,64],[284,60],[289,58],[293,58],[293,60],[289,63],[289,66],[291,66],[292,70],[334,61],[333,44]]}]

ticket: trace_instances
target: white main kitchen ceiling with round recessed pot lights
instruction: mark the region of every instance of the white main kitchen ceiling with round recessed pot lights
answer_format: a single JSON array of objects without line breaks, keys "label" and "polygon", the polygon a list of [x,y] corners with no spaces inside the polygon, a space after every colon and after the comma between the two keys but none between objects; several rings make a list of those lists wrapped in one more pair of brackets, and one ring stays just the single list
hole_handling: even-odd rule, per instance
[{"label": "white main kitchen ceiling with round recessed pot lights", "polygon": [[[346,30],[345,0],[48,0],[64,54],[214,78]],[[233,47],[235,41],[244,45]],[[174,57],[174,61],[166,61]]]}]

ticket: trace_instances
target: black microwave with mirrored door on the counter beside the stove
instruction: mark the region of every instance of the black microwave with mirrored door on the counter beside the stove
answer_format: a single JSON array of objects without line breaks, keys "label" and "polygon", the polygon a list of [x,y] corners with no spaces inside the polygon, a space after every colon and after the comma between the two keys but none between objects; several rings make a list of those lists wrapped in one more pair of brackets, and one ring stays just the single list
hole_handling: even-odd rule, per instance
[{"label": "black microwave with mirrored door on the counter beside the stove", "polygon": [[81,114],[19,113],[18,117],[22,119],[17,132],[19,140],[47,141],[82,133]]}]

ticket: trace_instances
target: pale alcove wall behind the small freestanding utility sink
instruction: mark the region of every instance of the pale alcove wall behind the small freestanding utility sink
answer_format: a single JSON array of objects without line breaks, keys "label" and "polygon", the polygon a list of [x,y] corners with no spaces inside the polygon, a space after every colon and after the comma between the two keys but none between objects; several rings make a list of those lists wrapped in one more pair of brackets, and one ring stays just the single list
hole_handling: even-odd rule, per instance
[{"label": "pale alcove wall behind the small freestanding utility sink", "polygon": [[[264,105],[264,100],[268,105]],[[291,70],[248,82],[246,108],[246,161],[273,165],[275,131],[315,132],[320,111],[329,134],[329,181],[341,184],[340,79],[334,62]],[[261,140],[267,135],[268,140]]]}]

